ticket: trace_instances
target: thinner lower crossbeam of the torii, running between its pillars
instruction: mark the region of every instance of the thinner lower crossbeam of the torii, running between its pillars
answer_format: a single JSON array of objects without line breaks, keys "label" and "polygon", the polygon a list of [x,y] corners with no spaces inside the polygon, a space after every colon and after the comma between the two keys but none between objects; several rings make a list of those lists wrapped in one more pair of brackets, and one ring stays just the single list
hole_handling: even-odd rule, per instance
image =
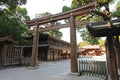
[{"label": "thinner lower crossbeam of the torii, running between its pillars", "polygon": [[[84,21],[75,21],[75,26],[80,26],[80,25],[85,25],[85,24],[89,24],[89,20],[84,20]],[[46,27],[46,28],[39,28],[39,32],[43,32],[43,31],[49,31],[49,30],[54,30],[54,29],[60,29],[60,28],[67,28],[70,27],[69,23],[66,24],[59,24],[59,25],[52,25],[50,27]],[[29,33],[33,33],[33,30],[29,30]]]}]

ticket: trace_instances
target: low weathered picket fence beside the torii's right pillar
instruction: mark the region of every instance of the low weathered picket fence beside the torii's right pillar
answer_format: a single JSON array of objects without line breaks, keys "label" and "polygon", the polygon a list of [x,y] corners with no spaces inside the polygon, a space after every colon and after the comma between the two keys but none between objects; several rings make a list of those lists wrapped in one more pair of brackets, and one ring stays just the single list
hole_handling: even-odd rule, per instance
[{"label": "low weathered picket fence beside the torii's right pillar", "polygon": [[79,60],[79,75],[108,78],[106,61]]}]

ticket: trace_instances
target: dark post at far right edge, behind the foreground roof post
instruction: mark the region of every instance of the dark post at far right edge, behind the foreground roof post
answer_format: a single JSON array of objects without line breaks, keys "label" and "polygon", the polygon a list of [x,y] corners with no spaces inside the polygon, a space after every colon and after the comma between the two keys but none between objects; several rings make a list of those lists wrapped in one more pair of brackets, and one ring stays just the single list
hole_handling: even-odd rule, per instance
[{"label": "dark post at far right edge, behind the foreground roof post", "polygon": [[115,49],[116,49],[116,57],[117,57],[117,64],[118,68],[120,68],[120,42],[119,42],[119,36],[116,36],[115,39]]}]

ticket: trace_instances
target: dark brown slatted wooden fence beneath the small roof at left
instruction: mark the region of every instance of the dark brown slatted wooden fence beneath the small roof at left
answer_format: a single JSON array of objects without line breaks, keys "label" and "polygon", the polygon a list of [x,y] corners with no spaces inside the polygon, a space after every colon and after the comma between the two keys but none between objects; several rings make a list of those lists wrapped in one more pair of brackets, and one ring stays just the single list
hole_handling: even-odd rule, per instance
[{"label": "dark brown slatted wooden fence beneath the small roof at left", "polygon": [[4,46],[1,55],[1,66],[18,65],[22,63],[22,48]]}]

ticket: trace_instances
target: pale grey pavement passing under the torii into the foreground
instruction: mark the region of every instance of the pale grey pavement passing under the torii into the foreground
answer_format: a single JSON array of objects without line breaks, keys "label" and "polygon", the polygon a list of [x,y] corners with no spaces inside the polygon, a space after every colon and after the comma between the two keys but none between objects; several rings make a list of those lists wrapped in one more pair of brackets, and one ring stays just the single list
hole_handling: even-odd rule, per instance
[{"label": "pale grey pavement passing under the torii into the foreground", "polygon": [[70,73],[70,60],[40,62],[38,69],[16,67],[0,70],[0,80],[104,80]]}]

